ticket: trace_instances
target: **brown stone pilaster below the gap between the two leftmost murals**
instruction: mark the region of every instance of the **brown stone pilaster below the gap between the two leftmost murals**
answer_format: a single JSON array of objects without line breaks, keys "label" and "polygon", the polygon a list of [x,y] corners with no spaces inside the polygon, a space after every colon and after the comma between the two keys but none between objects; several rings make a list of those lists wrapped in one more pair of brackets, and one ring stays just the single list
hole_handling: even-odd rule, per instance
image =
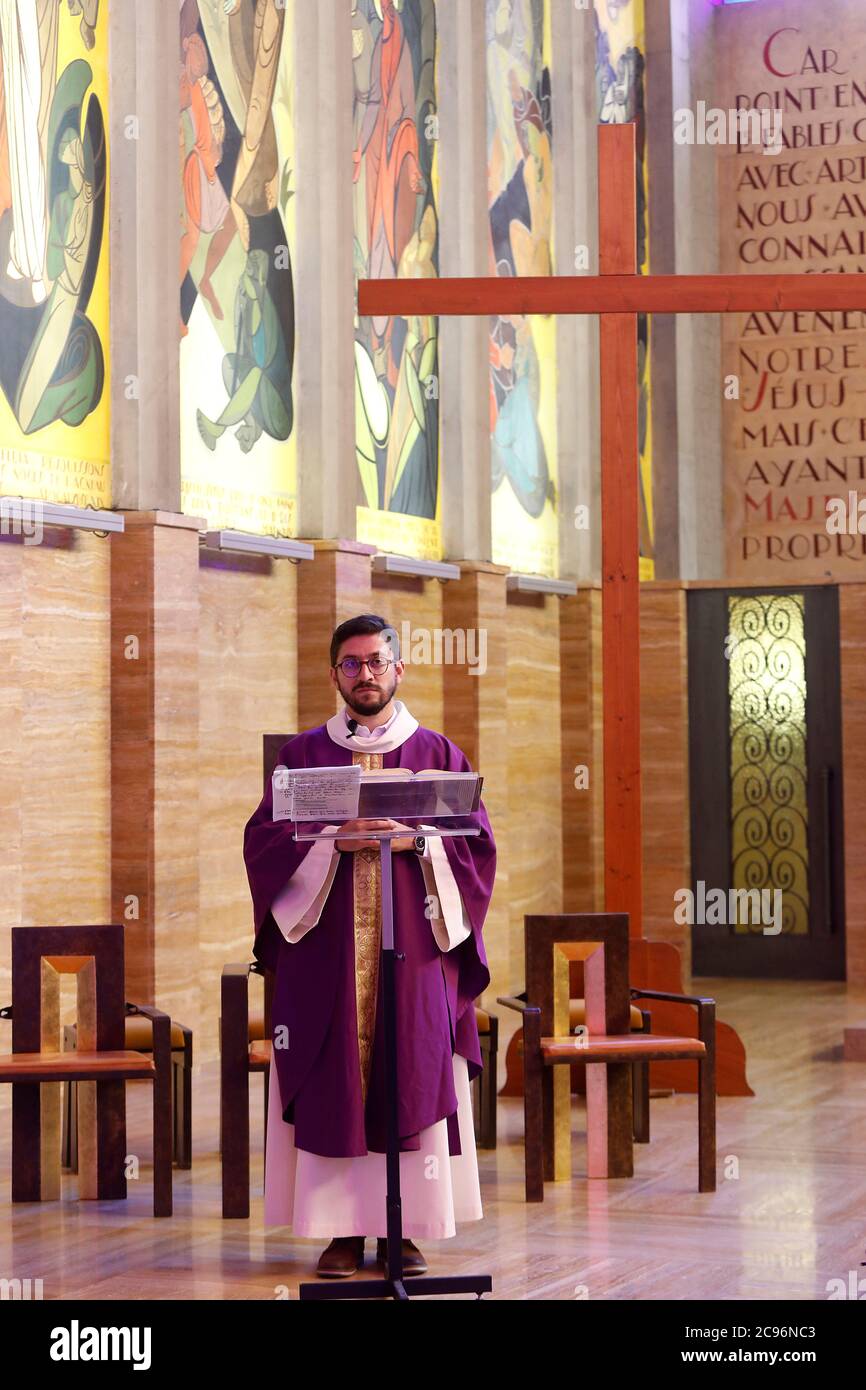
[{"label": "brown stone pilaster below the gap between the two leftmost murals", "polygon": [[111,920],[126,995],[199,1015],[199,517],[111,542]]}]

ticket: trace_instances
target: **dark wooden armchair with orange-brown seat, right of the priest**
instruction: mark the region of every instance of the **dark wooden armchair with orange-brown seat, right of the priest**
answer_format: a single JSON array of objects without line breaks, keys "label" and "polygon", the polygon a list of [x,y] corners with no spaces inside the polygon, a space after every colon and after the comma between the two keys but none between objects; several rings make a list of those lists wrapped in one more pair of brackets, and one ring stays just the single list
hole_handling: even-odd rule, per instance
[{"label": "dark wooden armchair with orange-brown seat, right of the priest", "polygon": [[[587,1033],[569,1031],[569,967],[584,966]],[[545,1180],[571,1173],[569,1068],[587,1065],[587,1172],[631,1177],[632,1068],[653,1061],[698,1063],[699,1191],[716,1190],[716,1004],[689,995],[628,987],[626,913],[525,917],[527,998],[500,998],[523,1015],[525,1198],[544,1201]],[[692,1004],[698,1037],[630,1031],[632,1001]],[[556,1072],[556,1068],[562,1070]],[[642,1088],[641,1088],[642,1090]],[[637,1129],[649,1138],[649,1106]]]}]

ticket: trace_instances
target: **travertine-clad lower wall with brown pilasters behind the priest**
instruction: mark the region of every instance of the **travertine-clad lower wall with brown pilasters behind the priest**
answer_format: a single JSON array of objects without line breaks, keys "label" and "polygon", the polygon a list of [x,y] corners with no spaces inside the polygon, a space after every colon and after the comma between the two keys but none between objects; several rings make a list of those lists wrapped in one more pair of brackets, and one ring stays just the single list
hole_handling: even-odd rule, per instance
[{"label": "travertine-clad lower wall with brown pilasters behind the priest", "polygon": [[[126,555],[142,577],[136,548],[150,545],[147,528],[132,525],[126,542],[133,537]],[[0,997],[7,1002],[10,994],[10,927],[124,920],[129,997],[152,998],[189,1023],[197,1061],[206,1061],[217,1052],[220,970],[247,959],[252,945],[242,833],[260,796],[261,734],[304,727],[302,688],[320,681],[327,651],[318,638],[310,641],[299,612],[300,567],[197,557],[195,532],[182,528],[168,550],[165,537],[154,549],[154,563],[160,556],[168,563],[175,588],[168,587],[170,599],[153,620],[152,667],[133,677],[133,663],[115,660],[113,676],[111,621],[115,642],[135,626],[125,621],[129,594],[117,581],[120,559],[111,619],[115,545],[81,535],[33,548],[0,545]],[[368,556],[353,559],[370,564]],[[306,588],[320,563],[306,569]],[[167,584],[163,575],[154,585],[163,599]],[[375,578],[357,594],[357,574],[353,584],[360,606],[384,612],[398,628],[409,621],[416,634],[457,626],[484,626],[487,632],[484,676],[416,663],[402,695],[485,776],[499,845],[485,933],[492,1005],[496,994],[523,986],[524,913],[602,908],[598,592],[566,600],[506,598],[500,570],[471,564],[445,585]],[[863,983],[859,826],[866,810],[859,806],[858,759],[866,595],[859,585],[844,585],[840,599],[848,976]],[[325,619],[322,612],[322,631]],[[139,627],[147,641],[145,610]],[[182,634],[193,631],[190,645]],[[673,923],[673,895],[689,881],[685,663],[684,588],[645,587],[644,931],[677,945],[688,976],[688,933]],[[133,678],[143,678],[143,687],[125,688]],[[140,759],[149,741],[150,769]],[[589,767],[587,791],[574,787],[578,763]],[[113,769],[121,802],[114,844]],[[132,801],[132,830],[124,819],[125,787],[139,798]],[[139,897],[132,917],[124,913],[129,894]]]}]

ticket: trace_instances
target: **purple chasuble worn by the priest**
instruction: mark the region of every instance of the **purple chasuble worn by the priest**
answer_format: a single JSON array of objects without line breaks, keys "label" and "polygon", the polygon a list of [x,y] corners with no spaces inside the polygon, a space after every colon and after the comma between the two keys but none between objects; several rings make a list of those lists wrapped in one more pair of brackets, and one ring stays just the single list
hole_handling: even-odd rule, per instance
[{"label": "purple chasuble worn by the priest", "polygon": [[[375,751],[375,742],[370,744]],[[352,748],[335,744],[327,727],[291,738],[279,752],[286,767],[336,767],[352,763]],[[430,728],[416,728],[382,755],[385,767],[471,771],[464,753]],[[253,895],[256,959],[275,972],[272,1026],[288,1029],[288,1047],[274,1048],[284,1119],[295,1144],[329,1158],[385,1152],[385,1058],[382,983],[377,988],[370,1084],[361,1102],[354,984],[353,853],[339,866],[318,923],[300,941],[285,941],[271,903],[313,847],[297,844],[291,821],[274,821],[271,790],[249,820],[243,858]],[[430,820],[430,817],[421,817]],[[403,824],[416,826],[417,819]],[[396,959],[396,1036],[400,1148],[420,1148],[418,1134],[448,1120],[449,1151],[460,1152],[452,1054],[464,1056],[470,1080],[481,1072],[474,1001],[489,984],[481,929],[493,890],[496,847],[481,802],[471,816],[449,816],[443,828],[477,826],[480,835],[443,838],[471,935],[442,952],[425,916],[427,887],[417,855],[399,852],[393,866]],[[322,830],[324,821],[304,830]],[[400,959],[400,955],[403,959]]]}]

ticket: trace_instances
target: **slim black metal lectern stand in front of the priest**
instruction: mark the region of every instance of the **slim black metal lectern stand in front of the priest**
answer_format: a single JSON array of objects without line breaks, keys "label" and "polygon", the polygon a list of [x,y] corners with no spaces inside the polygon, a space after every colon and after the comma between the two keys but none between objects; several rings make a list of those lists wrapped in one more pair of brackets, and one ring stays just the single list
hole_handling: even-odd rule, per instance
[{"label": "slim black metal lectern stand in front of the priest", "polygon": [[[405,835],[405,830],[357,831],[343,835],[342,831],[327,831],[324,835],[297,835],[296,840],[378,840],[382,865],[382,1020],[385,1026],[385,1091],[388,1097],[388,1148],[386,1148],[386,1229],[388,1229],[388,1277],[386,1279],[341,1279],[300,1284],[299,1298],[304,1302],[327,1302],[345,1298],[395,1298],[400,1302],[432,1294],[489,1294],[493,1280],[489,1275],[455,1275],[452,1277],[430,1279],[413,1275],[403,1276],[403,1209],[400,1202],[400,1137],[398,1112],[398,1038],[396,1038],[396,960],[393,945],[393,880],[391,874],[391,841]],[[478,830],[424,830],[425,835],[477,835]]]}]

